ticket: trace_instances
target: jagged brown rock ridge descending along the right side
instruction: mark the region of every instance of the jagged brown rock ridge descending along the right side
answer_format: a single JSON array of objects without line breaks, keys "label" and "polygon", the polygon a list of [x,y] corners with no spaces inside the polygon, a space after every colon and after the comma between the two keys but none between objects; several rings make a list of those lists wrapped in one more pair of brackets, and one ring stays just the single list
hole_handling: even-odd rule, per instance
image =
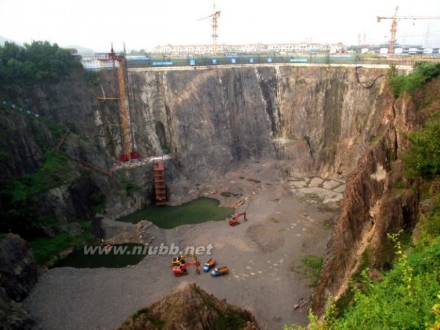
[{"label": "jagged brown rock ridge descending along the right side", "polygon": [[[316,313],[321,314],[326,304],[341,298],[349,289],[350,277],[362,267],[389,267],[393,250],[387,233],[415,226],[419,196],[411,189],[396,188],[396,183],[402,181],[400,156],[409,148],[404,133],[438,109],[439,86],[437,78],[426,86],[424,96],[406,95],[383,107],[380,138],[361,156],[348,179],[341,213],[328,244],[328,257],[313,297]],[[416,110],[424,104],[430,105],[424,111]]]}]

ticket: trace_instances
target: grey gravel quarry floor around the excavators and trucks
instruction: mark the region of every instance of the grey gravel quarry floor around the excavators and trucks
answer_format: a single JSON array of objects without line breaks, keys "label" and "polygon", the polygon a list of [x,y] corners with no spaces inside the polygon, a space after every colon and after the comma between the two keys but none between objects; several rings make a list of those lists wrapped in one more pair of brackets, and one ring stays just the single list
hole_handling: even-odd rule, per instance
[{"label": "grey gravel quarry floor around the excavators and trucks", "polygon": [[148,227],[151,246],[213,244],[212,255],[198,255],[200,263],[213,257],[218,266],[229,267],[228,275],[196,275],[189,267],[188,275],[174,277],[173,255],[147,255],[135,266],[118,269],[52,268],[24,307],[47,330],[116,329],[137,309],[194,281],[218,299],[248,309],[261,329],[305,325],[313,288],[301,259],[324,255],[345,185],[343,179],[285,177],[285,166],[274,160],[249,162],[197,185],[196,193],[237,206],[236,214],[246,211],[248,220],[240,218],[240,225],[221,220],[166,230]]}]

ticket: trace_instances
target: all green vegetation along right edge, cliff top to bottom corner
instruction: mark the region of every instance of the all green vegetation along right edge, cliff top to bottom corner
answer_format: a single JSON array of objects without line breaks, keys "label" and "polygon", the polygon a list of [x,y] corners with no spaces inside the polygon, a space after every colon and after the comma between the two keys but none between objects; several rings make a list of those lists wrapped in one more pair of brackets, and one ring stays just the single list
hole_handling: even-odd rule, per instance
[{"label": "all green vegetation along right edge, cliff top to bottom corner", "polygon": [[[391,68],[389,79],[398,96],[439,73],[440,64],[419,64],[409,76],[397,76],[396,68]],[[405,179],[395,186],[411,186],[414,179],[424,183],[419,192],[430,207],[420,216],[417,242],[409,239],[409,232],[389,234],[396,256],[393,268],[376,282],[364,268],[352,279],[345,301],[331,305],[320,320],[309,314],[307,329],[440,329],[439,111],[407,138],[412,147],[402,157]]]}]

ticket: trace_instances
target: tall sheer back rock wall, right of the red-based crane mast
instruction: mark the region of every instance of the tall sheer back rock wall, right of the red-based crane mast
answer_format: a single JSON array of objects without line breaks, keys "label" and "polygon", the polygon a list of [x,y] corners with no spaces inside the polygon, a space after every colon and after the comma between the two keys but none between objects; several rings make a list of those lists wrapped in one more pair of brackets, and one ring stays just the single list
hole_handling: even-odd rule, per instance
[{"label": "tall sheer back rock wall, right of the red-based crane mast", "polygon": [[169,151],[185,175],[209,177],[261,157],[348,173],[377,129],[385,81],[363,88],[355,68],[273,66],[133,71],[130,82],[140,153]]}]

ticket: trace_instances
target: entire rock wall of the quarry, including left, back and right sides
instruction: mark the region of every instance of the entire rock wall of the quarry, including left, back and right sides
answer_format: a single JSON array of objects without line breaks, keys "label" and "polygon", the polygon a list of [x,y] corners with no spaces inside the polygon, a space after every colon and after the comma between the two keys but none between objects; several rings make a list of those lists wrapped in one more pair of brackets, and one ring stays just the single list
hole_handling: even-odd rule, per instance
[{"label": "entire rock wall of the quarry, including left, back and right sides", "polygon": [[[417,196],[393,190],[405,142],[399,129],[417,122],[415,103],[395,100],[386,72],[375,68],[258,66],[185,71],[129,71],[128,95],[133,144],[141,157],[168,155],[168,182],[196,183],[240,166],[242,160],[289,160],[287,175],[348,175],[341,207],[313,305],[322,312],[329,298],[348,288],[364,251],[371,264],[385,264],[385,233],[414,225]],[[93,79],[91,79],[93,78]],[[31,173],[41,166],[44,147],[59,141],[41,118],[70,127],[64,151],[111,170],[122,151],[116,75],[75,73],[57,84],[16,86],[17,107],[40,117],[0,112],[0,177]],[[359,163],[357,162],[359,160]],[[114,177],[84,172],[71,163],[75,185],[41,196],[62,225],[90,214],[90,196],[102,194],[109,212],[151,203],[151,168],[114,171],[140,190],[123,190]],[[73,165],[72,165],[73,164]],[[9,181],[8,181],[9,180]],[[174,193],[179,193],[177,191]],[[85,206],[86,205],[86,206]],[[376,249],[377,248],[377,249]]]}]

